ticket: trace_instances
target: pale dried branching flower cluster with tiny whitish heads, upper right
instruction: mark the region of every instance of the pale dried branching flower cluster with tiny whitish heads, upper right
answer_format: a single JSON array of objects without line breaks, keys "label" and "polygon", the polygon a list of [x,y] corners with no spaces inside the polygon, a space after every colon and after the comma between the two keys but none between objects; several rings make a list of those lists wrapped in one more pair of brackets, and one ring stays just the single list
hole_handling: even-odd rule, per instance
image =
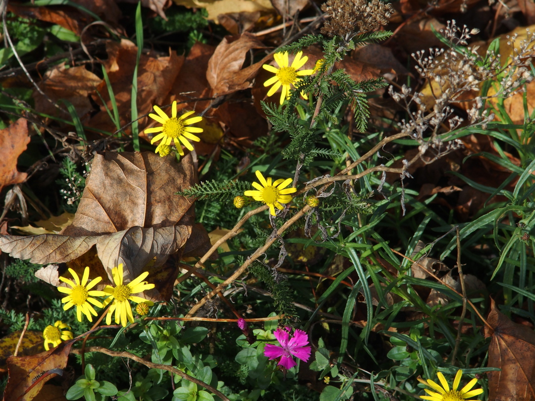
[{"label": "pale dried branching flower cluster with tiny whitish heads, upper right", "polygon": [[[449,47],[418,51],[412,55],[417,62],[416,70],[430,83],[434,102],[432,110],[428,109],[429,102],[424,103],[425,96],[421,92],[412,91],[407,86],[403,86],[400,92],[394,92],[392,86],[388,90],[409,116],[408,121],[401,121],[401,132],[418,141],[419,155],[425,163],[432,163],[462,146],[458,140],[445,142],[456,129],[467,125],[486,128],[488,122],[494,119],[490,109],[485,108],[489,98],[509,97],[522,91],[524,84],[533,80],[529,65],[535,57],[535,34],[529,30],[526,39],[516,45],[513,56],[505,65],[502,65],[498,52],[488,50],[480,56],[477,47],[467,47],[470,37],[479,33],[477,29],[461,28],[455,21],[449,21],[441,33]],[[510,38],[509,44],[515,46],[515,40],[517,35]],[[485,81],[495,82],[496,90],[482,96],[480,90]],[[452,105],[461,102],[470,103],[467,122],[453,115]],[[427,153],[425,160],[424,153]]]}]

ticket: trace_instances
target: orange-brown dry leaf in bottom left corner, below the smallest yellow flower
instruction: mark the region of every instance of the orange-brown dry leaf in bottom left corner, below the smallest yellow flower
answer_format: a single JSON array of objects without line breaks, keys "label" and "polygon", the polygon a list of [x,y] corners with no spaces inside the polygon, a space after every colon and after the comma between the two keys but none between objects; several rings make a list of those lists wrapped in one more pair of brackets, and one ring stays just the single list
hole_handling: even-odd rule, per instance
[{"label": "orange-brown dry leaf in bottom left corner, below the smallest yellow flower", "polygon": [[[30,401],[33,399],[45,382],[57,374],[63,373],[62,369],[67,365],[68,353],[71,351],[72,344],[74,344],[74,340],[65,341],[50,351],[27,357],[7,358],[9,379],[4,392],[5,401]],[[47,373],[49,374],[45,375]],[[40,378],[40,376],[43,377]],[[37,381],[37,379],[40,380]],[[34,387],[28,391],[27,389],[34,383],[36,383]]]}]

